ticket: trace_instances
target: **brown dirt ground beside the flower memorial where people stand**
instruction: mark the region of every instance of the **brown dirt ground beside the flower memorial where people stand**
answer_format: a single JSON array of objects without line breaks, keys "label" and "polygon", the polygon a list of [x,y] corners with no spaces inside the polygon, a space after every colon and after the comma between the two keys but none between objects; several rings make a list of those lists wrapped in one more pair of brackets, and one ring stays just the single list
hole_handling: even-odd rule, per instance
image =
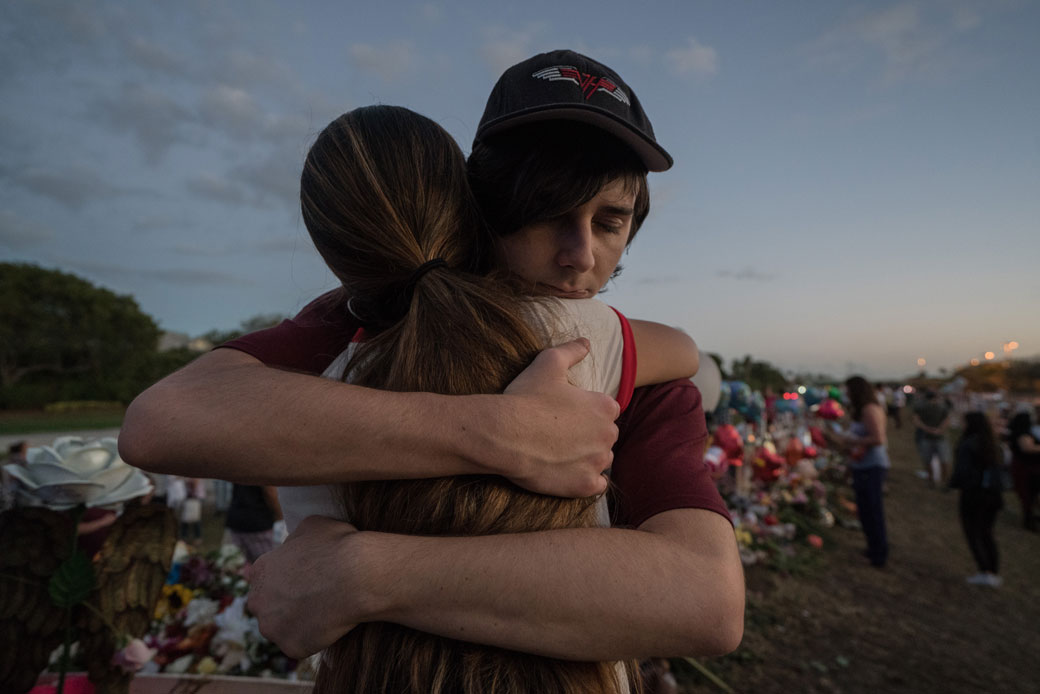
[{"label": "brown dirt ground beside the flower memorial where people stand", "polygon": [[[890,432],[885,497],[891,556],[869,567],[862,535],[834,528],[804,575],[748,573],[744,643],[709,668],[735,692],[1040,692],[1040,535],[1021,529],[1017,498],[997,519],[1004,587],[976,572],[958,492],[917,479],[912,433]],[[679,671],[684,691],[721,691]]]}]

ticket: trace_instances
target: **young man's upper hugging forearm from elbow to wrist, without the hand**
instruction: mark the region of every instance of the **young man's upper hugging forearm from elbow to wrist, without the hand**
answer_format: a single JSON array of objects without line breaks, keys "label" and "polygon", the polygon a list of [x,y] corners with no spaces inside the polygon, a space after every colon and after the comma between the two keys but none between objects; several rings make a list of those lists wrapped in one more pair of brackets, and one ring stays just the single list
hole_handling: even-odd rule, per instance
[{"label": "young man's upper hugging forearm from elbow to wrist, without the hand", "polygon": [[478,397],[490,396],[360,388],[217,350],[131,404],[120,453],[150,471],[260,485],[469,473],[461,422],[480,419]]}]

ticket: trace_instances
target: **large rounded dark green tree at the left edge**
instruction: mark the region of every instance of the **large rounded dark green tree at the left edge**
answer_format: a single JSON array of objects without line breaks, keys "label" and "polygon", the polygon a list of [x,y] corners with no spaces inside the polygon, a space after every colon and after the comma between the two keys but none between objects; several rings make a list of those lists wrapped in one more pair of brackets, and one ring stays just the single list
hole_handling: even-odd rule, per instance
[{"label": "large rounded dark green tree at the left edge", "polygon": [[0,263],[0,407],[128,402],[154,374],[159,329],[129,295]]}]

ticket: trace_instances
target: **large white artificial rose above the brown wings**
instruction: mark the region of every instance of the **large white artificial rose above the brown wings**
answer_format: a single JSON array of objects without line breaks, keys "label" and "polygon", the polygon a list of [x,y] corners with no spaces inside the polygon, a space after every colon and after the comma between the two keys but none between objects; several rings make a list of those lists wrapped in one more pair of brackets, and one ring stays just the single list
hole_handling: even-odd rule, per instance
[{"label": "large white artificial rose above the brown wings", "polygon": [[52,445],[29,448],[24,465],[4,469],[21,483],[19,504],[55,511],[80,504],[111,507],[152,491],[145,473],[120,458],[113,438],[63,436]]}]

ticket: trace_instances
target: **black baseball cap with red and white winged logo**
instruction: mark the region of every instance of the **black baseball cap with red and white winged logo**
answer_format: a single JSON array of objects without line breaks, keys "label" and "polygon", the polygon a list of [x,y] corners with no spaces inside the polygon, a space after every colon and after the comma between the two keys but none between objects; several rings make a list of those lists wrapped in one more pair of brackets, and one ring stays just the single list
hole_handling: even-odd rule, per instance
[{"label": "black baseball cap with red and white winged logo", "polygon": [[556,120],[607,131],[632,148],[647,171],[672,168],[672,156],[657,144],[635,93],[602,62],[567,50],[541,53],[502,73],[474,142],[525,123]]}]

